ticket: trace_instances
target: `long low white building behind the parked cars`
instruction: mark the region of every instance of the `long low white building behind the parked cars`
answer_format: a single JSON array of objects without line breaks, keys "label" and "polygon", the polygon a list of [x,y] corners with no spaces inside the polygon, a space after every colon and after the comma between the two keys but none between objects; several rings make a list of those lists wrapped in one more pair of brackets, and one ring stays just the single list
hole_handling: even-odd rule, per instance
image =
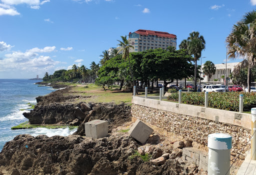
[{"label": "long low white building behind the parked cars", "polygon": [[[233,71],[234,67],[238,64],[239,62],[230,62],[230,63],[221,63],[221,64],[215,64],[216,70],[215,73],[211,75],[209,81],[213,81],[214,79],[218,79],[217,81],[223,81],[224,78],[221,78],[222,75],[225,76],[226,72],[226,77],[228,79],[228,82],[231,82],[231,79],[228,77],[229,74]],[[203,67],[204,64],[202,64],[202,72],[203,72]],[[200,76],[203,78],[201,82],[207,82],[208,81],[208,75],[205,75],[204,73],[200,73]]]}]

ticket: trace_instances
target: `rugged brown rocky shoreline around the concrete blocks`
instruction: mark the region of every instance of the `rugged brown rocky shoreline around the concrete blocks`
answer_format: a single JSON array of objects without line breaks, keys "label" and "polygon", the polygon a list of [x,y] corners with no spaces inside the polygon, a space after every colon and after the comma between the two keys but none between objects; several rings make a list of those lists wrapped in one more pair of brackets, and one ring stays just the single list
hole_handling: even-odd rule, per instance
[{"label": "rugged brown rocky shoreline around the concrete blocks", "polygon": [[[76,103],[86,96],[70,90],[37,97],[24,116],[31,124],[78,125],[77,131],[66,137],[17,135],[0,152],[0,174],[206,174],[181,158],[182,147],[191,145],[189,138],[173,144],[154,131],[141,144],[122,131],[132,124],[129,105]],[[84,136],[83,123],[93,119],[108,121],[107,137]]]}]

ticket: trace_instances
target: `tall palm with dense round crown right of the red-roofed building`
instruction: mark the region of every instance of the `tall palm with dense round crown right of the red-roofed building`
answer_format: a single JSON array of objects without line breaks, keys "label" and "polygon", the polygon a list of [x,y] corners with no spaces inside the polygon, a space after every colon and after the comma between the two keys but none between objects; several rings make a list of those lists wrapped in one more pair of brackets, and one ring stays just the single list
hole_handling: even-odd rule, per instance
[{"label": "tall palm with dense round crown right of the red-roofed building", "polygon": [[[193,31],[189,33],[187,37],[187,49],[189,54],[194,57],[194,84],[196,85],[196,75],[197,75],[197,60],[201,57],[201,52],[205,48],[205,40],[202,35],[199,35],[198,31]],[[194,88],[196,91],[196,88]]]}]

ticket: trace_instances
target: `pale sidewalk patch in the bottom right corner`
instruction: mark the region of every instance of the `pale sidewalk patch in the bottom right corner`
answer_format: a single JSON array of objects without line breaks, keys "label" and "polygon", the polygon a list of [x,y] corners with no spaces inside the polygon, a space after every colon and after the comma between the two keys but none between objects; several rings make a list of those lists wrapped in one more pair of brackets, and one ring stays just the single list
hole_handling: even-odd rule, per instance
[{"label": "pale sidewalk patch in the bottom right corner", "polygon": [[236,175],[256,175],[256,160],[250,160],[250,152],[246,155]]}]

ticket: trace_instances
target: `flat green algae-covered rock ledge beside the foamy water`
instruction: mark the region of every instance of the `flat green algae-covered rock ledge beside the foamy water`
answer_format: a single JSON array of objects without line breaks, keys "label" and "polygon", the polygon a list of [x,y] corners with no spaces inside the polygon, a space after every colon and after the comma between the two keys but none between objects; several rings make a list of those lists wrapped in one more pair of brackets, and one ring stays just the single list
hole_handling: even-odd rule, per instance
[{"label": "flat green algae-covered rock ledge beside the foamy water", "polygon": [[77,126],[70,126],[70,125],[56,125],[56,124],[28,124],[28,121],[20,123],[19,125],[11,127],[11,129],[29,129],[29,128],[36,128],[36,127],[44,127],[47,129],[56,129],[56,128],[66,128],[74,129]]}]

